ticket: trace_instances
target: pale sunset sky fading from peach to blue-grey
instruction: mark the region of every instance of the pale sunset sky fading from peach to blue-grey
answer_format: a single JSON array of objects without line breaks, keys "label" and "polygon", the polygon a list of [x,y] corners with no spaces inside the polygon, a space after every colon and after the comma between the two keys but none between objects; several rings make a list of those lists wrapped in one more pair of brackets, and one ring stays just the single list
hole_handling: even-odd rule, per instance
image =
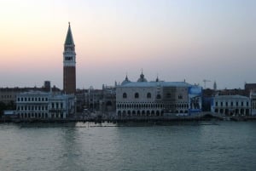
[{"label": "pale sunset sky fading from peach to blue-grey", "polygon": [[254,0],[0,0],[0,87],[63,88],[71,23],[77,88],[186,81],[256,83]]}]

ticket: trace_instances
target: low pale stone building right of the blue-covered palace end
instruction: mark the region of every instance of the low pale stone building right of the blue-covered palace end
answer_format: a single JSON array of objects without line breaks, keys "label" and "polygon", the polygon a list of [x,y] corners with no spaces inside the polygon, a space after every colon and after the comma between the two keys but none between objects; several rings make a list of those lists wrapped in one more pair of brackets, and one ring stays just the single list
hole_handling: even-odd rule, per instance
[{"label": "low pale stone building right of the blue-covered palace end", "polygon": [[251,101],[241,95],[217,95],[212,98],[211,111],[226,116],[248,116],[251,113]]}]

